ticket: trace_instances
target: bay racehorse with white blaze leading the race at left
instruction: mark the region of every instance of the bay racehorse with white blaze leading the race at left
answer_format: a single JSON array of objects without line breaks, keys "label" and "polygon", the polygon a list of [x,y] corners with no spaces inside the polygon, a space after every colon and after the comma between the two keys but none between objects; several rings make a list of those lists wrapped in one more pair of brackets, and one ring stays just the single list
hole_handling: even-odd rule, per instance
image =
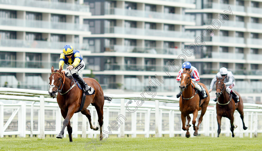
[{"label": "bay racehorse with white blaze leading the race at left", "polygon": [[[72,127],[70,126],[70,119],[74,113],[79,112],[80,105],[82,102],[82,90],[75,86],[75,82],[72,78],[65,76],[64,71],[62,72],[62,67],[59,70],[54,70],[54,67],[51,67],[51,76],[49,77],[50,80],[50,89],[49,95],[51,97],[56,97],[57,95],[57,103],[59,108],[61,109],[61,114],[65,119],[63,121],[63,128],[61,132],[56,136],[56,138],[63,138],[65,126],[67,126],[67,131],[69,135],[69,141],[73,142],[72,140]],[[90,124],[90,128],[93,130],[98,130],[98,126],[95,126],[91,122],[91,114],[87,107],[90,103],[95,106],[97,115],[98,115],[98,123],[100,126],[100,135],[99,139],[103,139],[102,134],[102,126],[103,126],[103,106],[104,100],[111,101],[110,97],[104,96],[103,90],[99,83],[93,78],[84,78],[85,82],[95,89],[95,94],[93,95],[86,95],[85,104],[82,107],[80,112],[84,114]]]}]

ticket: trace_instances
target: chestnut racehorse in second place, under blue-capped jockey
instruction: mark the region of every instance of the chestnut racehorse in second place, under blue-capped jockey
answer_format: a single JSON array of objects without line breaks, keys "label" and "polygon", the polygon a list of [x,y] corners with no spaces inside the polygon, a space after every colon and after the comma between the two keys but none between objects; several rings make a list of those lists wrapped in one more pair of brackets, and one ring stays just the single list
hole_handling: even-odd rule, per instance
[{"label": "chestnut racehorse in second place, under blue-capped jockey", "polygon": [[[182,92],[182,95],[179,99],[179,110],[181,111],[181,120],[182,120],[182,130],[187,130],[186,132],[186,137],[190,137],[189,133],[189,127],[191,126],[189,124],[191,117],[189,114],[193,113],[193,129],[195,130],[194,136],[198,135],[198,128],[200,123],[202,122],[203,116],[206,113],[206,108],[209,103],[209,93],[206,88],[206,86],[202,83],[198,83],[201,85],[205,90],[206,90],[206,95],[207,97],[201,100],[201,104],[199,101],[199,95],[196,95],[196,90],[193,89],[191,86],[191,76],[190,73],[192,72],[192,69],[190,71],[186,71],[186,68],[184,68],[183,73],[181,74],[181,81],[180,81],[180,91]],[[196,117],[197,117],[197,112],[201,110],[201,115],[198,119],[198,124],[196,124]],[[186,125],[186,117],[187,117],[187,125]],[[186,125],[186,126],[185,126]]]}]

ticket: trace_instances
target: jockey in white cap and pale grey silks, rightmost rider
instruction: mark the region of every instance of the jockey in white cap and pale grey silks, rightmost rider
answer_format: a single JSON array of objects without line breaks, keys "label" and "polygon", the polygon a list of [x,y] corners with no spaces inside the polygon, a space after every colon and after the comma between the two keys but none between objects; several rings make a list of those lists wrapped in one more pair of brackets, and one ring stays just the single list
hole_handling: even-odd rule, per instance
[{"label": "jockey in white cap and pale grey silks, rightmost rider", "polygon": [[[210,83],[210,89],[209,92],[212,91],[212,88],[214,86],[214,84],[216,83],[216,77],[218,79],[223,79],[226,76],[226,78],[224,79],[224,83],[226,85],[226,92],[229,94],[232,94],[232,98],[234,99],[235,103],[237,103],[239,101],[237,94],[235,94],[234,91],[232,91],[232,88],[235,86],[235,80],[234,80],[234,76],[232,74],[231,71],[227,71],[227,69],[225,67],[222,67],[219,69],[219,72],[216,74],[215,78],[212,79],[211,83]],[[216,98],[214,99],[214,101],[216,102]]]}]

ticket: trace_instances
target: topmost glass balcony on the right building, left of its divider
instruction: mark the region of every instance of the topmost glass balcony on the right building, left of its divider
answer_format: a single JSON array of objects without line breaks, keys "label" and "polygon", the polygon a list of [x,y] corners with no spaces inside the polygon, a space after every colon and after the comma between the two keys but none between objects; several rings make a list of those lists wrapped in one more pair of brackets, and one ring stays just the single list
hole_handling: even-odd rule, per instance
[{"label": "topmost glass balcony on the right building, left of its divider", "polygon": [[232,5],[232,4],[224,4],[224,3],[214,3],[214,2],[207,3],[207,4],[203,5],[203,8],[221,9],[221,10],[228,11],[229,10],[228,9],[229,6],[230,6],[232,11],[245,12],[245,7],[244,6]]}]

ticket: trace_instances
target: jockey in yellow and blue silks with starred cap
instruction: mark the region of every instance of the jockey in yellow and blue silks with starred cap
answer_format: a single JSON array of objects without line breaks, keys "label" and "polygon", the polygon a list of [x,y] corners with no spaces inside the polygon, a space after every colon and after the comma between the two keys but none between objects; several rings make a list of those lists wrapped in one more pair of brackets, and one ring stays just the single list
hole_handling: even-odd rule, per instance
[{"label": "jockey in yellow and blue silks with starred cap", "polygon": [[[83,58],[80,55],[80,52],[78,50],[73,49],[71,45],[65,45],[63,48],[63,52],[60,54],[60,61],[59,61],[59,68],[60,66],[64,66],[64,63],[69,65],[66,67],[65,74],[72,76],[77,81],[79,81],[81,87],[85,91],[86,95],[92,95],[95,94],[95,90],[91,88],[80,76],[79,74],[84,70],[85,68],[85,62],[83,61]],[[70,74],[70,70],[72,75]]]}]

